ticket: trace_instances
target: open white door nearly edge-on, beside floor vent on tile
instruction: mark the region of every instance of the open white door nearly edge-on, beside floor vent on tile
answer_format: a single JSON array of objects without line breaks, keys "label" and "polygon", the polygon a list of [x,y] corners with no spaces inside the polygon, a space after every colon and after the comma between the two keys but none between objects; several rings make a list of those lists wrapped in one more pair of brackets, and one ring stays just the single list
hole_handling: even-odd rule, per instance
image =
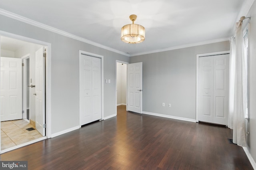
[{"label": "open white door nearly edge-on, beside floor vent on tile", "polygon": [[45,136],[45,79],[44,79],[44,47],[36,51],[36,130]]}]

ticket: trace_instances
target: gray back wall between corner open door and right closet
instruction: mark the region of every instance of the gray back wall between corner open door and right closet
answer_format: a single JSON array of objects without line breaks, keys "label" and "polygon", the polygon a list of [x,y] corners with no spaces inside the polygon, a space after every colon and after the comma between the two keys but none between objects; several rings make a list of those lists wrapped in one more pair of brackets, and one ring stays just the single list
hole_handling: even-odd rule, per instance
[{"label": "gray back wall between corner open door and right closet", "polygon": [[196,119],[196,54],[229,49],[226,41],[130,57],[142,62],[142,110]]}]

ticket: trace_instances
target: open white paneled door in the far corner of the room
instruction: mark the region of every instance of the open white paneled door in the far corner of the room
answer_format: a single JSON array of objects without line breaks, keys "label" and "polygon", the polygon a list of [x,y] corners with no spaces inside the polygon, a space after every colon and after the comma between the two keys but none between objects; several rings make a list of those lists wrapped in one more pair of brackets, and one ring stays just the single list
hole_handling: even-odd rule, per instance
[{"label": "open white paneled door in the far corner of the room", "polygon": [[142,113],[142,62],[127,65],[127,110]]}]

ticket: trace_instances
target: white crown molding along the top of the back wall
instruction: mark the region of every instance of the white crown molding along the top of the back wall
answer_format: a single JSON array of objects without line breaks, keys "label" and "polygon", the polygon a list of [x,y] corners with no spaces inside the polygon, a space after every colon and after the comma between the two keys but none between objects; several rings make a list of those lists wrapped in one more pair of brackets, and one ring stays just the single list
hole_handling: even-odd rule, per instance
[{"label": "white crown molding along the top of the back wall", "polygon": [[186,45],[179,45],[179,46],[175,46],[175,47],[168,47],[168,48],[163,48],[163,49],[156,49],[156,50],[153,50],[153,51],[146,51],[146,52],[142,52],[142,53],[130,54],[130,57],[132,57],[132,56],[137,56],[137,55],[158,53],[158,52],[163,52],[163,51],[170,51],[170,50],[174,50],[174,49],[181,49],[181,48],[187,48],[187,47],[194,47],[194,46],[205,45],[205,44],[209,44],[209,43],[224,42],[224,41],[229,41],[229,40],[230,40],[230,37],[227,37],[227,38],[220,38],[220,39],[210,40],[210,41],[205,41],[205,42],[190,43],[190,44],[186,44]]}]

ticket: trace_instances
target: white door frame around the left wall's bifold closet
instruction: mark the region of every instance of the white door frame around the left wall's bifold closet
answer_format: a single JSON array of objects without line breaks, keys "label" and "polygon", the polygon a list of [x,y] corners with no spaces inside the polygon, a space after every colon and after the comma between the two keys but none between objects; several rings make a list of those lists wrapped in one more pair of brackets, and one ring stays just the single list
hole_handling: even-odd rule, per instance
[{"label": "white door frame around the left wall's bifold closet", "polygon": [[[79,58],[80,58],[80,55],[90,55],[92,57],[98,57],[101,59],[101,119],[100,120],[104,120],[104,56],[90,53],[87,51],[79,50],[79,55],[78,55]],[[80,60],[78,59],[78,65],[79,65],[79,61]],[[80,101],[79,101],[79,103],[80,103]],[[82,127],[82,125],[80,123],[80,113],[79,113],[79,127],[80,128]]]}]

